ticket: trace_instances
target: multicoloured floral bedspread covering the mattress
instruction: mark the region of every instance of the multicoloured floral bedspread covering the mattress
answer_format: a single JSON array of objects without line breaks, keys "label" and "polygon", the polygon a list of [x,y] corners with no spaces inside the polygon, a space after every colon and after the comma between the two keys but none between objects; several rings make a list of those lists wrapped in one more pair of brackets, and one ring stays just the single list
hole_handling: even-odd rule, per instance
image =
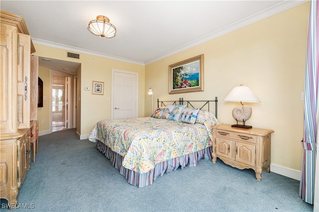
[{"label": "multicoloured floral bedspread covering the mattress", "polygon": [[102,120],[89,135],[124,157],[123,166],[146,173],[163,161],[212,145],[212,132],[203,124],[187,124],[151,117]]}]

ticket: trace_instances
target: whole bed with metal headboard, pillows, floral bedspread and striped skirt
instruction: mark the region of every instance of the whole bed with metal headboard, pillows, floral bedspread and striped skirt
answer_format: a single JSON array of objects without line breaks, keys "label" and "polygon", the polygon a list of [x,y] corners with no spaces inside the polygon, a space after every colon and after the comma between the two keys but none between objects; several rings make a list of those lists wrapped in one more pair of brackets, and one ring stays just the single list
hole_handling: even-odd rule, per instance
[{"label": "whole bed with metal headboard, pillows, floral bedspread and striped skirt", "polygon": [[[215,114],[209,103],[215,102]],[[200,103],[201,107],[193,104]],[[203,109],[203,108],[208,109]],[[138,188],[177,168],[212,159],[212,130],[217,120],[215,100],[159,101],[151,117],[101,120],[89,141],[111,160],[130,184]]]}]

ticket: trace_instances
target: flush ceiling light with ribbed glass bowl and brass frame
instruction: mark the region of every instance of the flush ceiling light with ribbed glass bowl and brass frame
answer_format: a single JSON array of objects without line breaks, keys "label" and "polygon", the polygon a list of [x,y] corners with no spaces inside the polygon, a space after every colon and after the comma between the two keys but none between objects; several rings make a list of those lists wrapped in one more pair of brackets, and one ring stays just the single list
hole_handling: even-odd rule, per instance
[{"label": "flush ceiling light with ribbed glass bowl and brass frame", "polygon": [[88,30],[97,36],[102,38],[115,37],[116,28],[110,23],[110,19],[103,15],[96,16],[96,20],[89,22]]}]

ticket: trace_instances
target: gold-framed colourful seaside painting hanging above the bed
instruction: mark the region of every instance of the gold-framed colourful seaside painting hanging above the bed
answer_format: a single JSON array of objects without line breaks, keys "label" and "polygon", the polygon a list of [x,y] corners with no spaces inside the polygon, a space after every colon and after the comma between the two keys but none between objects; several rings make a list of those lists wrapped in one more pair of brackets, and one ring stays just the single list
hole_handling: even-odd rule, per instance
[{"label": "gold-framed colourful seaside painting hanging above the bed", "polygon": [[169,94],[204,91],[204,55],[168,67]]}]

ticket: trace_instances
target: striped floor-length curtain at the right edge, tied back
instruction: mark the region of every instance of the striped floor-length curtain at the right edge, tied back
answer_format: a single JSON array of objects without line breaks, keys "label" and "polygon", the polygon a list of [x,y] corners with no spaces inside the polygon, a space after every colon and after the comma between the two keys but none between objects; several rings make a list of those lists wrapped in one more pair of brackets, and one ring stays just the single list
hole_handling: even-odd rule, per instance
[{"label": "striped floor-length curtain at the right edge, tied back", "polygon": [[306,203],[314,204],[317,129],[319,125],[319,7],[311,0],[308,26],[308,51],[305,74],[304,147],[299,195]]}]

